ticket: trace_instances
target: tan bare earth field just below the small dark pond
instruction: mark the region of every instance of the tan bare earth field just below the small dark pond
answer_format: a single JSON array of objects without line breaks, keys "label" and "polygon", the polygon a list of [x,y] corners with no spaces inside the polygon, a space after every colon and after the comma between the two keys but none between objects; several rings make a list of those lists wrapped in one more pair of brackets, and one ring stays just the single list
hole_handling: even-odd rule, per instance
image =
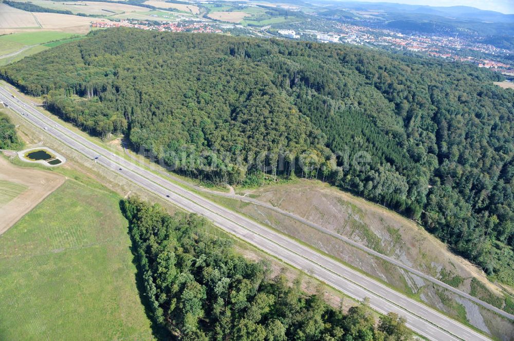
[{"label": "tan bare earth field just below the small dark pond", "polygon": [[[9,163],[4,157],[0,157],[0,188],[2,182],[9,182],[5,186],[17,185],[16,191],[11,191],[7,196],[11,197],[6,200],[4,205],[0,205],[0,235],[9,229],[13,224],[20,220],[32,208],[38,205],[48,194],[59,188],[64,182],[65,178],[62,175],[35,170],[30,168],[16,167]],[[26,188],[20,191],[21,188]],[[13,194],[14,193],[14,194]],[[0,202],[2,198],[0,197]]]}]

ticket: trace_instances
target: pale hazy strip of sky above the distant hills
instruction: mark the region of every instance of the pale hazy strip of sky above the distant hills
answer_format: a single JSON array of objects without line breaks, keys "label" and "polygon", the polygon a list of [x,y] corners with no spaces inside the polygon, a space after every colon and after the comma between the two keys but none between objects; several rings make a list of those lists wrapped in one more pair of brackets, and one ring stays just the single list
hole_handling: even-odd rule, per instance
[{"label": "pale hazy strip of sky above the distant hills", "polygon": [[373,3],[398,3],[429,6],[471,6],[502,13],[514,14],[514,0],[358,0]]}]

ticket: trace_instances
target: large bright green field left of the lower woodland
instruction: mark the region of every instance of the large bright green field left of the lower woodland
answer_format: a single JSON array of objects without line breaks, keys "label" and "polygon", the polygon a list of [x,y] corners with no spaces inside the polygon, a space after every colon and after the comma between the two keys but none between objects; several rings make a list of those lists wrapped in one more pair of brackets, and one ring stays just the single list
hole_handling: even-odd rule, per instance
[{"label": "large bright green field left of the lower woodland", "polygon": [[0,236],[0,335],[151,340],[120,197],[68,180]]}]

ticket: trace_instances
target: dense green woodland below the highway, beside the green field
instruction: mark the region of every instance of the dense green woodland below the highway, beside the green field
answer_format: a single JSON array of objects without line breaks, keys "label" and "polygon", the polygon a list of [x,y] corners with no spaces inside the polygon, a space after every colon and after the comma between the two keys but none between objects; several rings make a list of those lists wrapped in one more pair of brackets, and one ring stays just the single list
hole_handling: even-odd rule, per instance
[{"label": "dense green woodland below the highway, beside the green field", "polygon": [[270,278],[265,263],[234,254],[230,240],[206,233],[191,214],[124,200],[139,276],[153,319],[181,340],[401,341],[405,320],[390,313],[377,327],[366,303],[347,314],[306,295],[300,281]]}]

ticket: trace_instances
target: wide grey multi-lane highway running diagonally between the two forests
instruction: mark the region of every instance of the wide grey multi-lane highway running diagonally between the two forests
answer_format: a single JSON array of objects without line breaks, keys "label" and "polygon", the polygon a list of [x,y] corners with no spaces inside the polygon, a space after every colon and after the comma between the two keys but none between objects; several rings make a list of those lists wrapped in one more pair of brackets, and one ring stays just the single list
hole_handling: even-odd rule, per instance
[{"label": "wide grey multi-lane highway running diagonally between the two forests", "polygon": [[[362,300],[369,297],[370,306],[379,313],[395,312],[407,320],[407,326],[431,340],[489,340],[464,326],[388,286],[371,279],[332,258],[302,245],[277,231],[251,221],[193,192],[139,167],[67,129],[18,97],[13,98],[0,87],[0,100],[44,132],[70,148],[114,171],[127,180],[149,190],[178,207],[204,216],[218,227],[264,252],[307,272],[333,288]],[[92,161],[93,162],[93,161]]]}]

